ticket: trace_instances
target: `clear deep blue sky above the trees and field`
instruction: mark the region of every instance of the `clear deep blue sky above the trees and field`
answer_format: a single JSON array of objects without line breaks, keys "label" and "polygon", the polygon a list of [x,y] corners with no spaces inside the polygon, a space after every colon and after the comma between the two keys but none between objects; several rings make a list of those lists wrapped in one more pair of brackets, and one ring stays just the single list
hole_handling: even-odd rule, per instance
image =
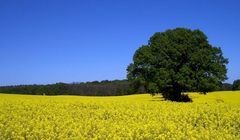
[{"label": "clear deep blue sky above the trees and field", "polygon": [[240,78],[238,0],[0,0],[0,85],[126,78],[153,33],[201,29]]}]

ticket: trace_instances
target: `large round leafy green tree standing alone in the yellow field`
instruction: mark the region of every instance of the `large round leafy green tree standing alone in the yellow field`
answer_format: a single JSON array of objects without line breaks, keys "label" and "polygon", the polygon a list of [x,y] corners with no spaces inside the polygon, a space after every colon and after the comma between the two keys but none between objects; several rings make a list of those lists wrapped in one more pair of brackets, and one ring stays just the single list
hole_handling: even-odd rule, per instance
[{"label": "large round leafy green tree standing alone in the yellow field", "polygon": [[127,71],[128,79],[144,83],[147,92],[182,101],[190,100],[182,92],[206,94],[226,80],[227,63],[202,31],[176,28],[155,33],[136,50]]}]

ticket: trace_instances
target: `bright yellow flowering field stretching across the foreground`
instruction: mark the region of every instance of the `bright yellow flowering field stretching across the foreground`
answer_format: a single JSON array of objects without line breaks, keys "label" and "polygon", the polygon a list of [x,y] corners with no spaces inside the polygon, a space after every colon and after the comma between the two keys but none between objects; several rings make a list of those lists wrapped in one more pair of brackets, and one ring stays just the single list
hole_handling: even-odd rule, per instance
[{"label": "bright yellow flowering field stretching across the foreground", "polygon": [[0,139],[240,139],[239,91],[190,96],[0,94]]}]

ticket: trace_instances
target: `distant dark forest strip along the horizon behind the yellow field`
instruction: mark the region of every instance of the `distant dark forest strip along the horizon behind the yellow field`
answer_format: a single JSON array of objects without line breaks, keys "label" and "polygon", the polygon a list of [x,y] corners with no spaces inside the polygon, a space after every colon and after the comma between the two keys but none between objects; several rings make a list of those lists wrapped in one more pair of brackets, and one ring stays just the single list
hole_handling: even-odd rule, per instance
[{"label": "distant dark forest strip along the horizon behind the yellow field", "polygon": [[[138,88],[136,89],[136,87]],[[216,90],[232,90],[232,84],[220,84]],[[128,80],[0,86],[0,93],[30,95],[120,96],[145,92],[144,86],[136,86],[136,83]]]}]

